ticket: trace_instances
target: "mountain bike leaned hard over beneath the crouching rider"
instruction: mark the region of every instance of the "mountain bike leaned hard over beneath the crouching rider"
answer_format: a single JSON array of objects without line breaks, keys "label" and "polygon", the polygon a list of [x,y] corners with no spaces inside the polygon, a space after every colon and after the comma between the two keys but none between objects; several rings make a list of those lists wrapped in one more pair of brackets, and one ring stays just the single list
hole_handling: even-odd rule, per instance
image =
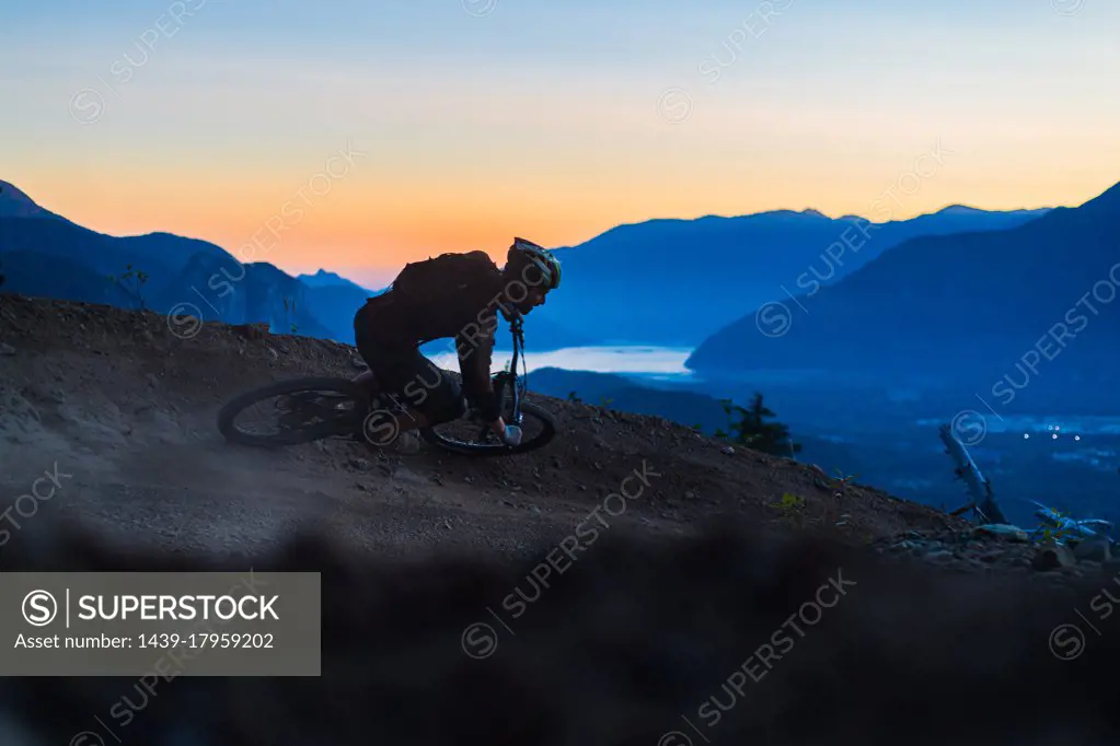
[{"label": "mountain bike leaned hard over beneath the crouching rider", "polygon": [[[524,365],[524,330],[521,317],[510,321],[513,358],[505,370],[494,374],[494,393],[502,403],[507,425],[522,427],[522,441],[506,445],[476,412],[459,419],[419,429],[428,443],[468,456],[507,456],[535,451],[556,436],[552,415],[526,400],[529,371]],[[517,374],[517,363],[522,372]],[[271,432],[259,432],[240,422],[251,409],[263,406]],[[231,443],[280,447],[326,438],[364,440],[384,444],[371,434],[371,419],[384,413],[403,413],[395,397],[345,378],[296,378],[282,380],[231,399],[217,414],[218,431]],[[395,416],[395,415],[394,415]],[[384,417],[380,417],[384,422]],[[393,433],[395,437],[395,433]]]}]

